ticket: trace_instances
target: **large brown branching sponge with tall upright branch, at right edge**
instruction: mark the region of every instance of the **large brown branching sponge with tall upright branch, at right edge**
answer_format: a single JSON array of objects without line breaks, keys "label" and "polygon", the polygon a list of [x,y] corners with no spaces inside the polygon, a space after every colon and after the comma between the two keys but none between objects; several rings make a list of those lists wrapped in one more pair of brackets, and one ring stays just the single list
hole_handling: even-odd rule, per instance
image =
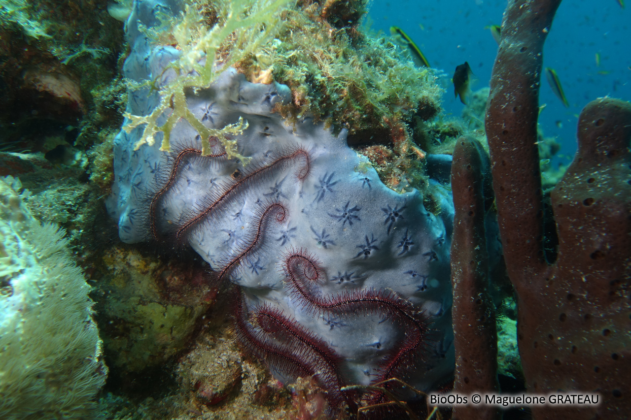
[{"label": "large brown branching sponge with tall upright branch, at right edge", "polygon": [[493,189],[528,391],[600,394],[598,407],[532,407],[534,419],[622,419],[631,412],[631,104],[603,98],[582,111],[579,149],[551,193],[559,245],[548,264],[536,124],[559,3],[510,1],[504,15],[486,120]]}]

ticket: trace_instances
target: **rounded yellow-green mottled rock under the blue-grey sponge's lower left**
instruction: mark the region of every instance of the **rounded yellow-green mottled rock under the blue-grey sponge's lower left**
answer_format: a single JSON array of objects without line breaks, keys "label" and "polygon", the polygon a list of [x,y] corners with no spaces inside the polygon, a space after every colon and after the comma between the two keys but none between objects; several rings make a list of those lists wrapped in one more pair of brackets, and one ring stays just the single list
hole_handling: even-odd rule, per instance
[{"label": "rounded yellow-green mottled rock under the blue-grey sponge's lower left", "polygon": [[102,255],[92,278],[98,279],[107,363],[123,376],[165,363],[186,346],[215,301],[216,286],[195,264],[162,262],[121,248]]}]

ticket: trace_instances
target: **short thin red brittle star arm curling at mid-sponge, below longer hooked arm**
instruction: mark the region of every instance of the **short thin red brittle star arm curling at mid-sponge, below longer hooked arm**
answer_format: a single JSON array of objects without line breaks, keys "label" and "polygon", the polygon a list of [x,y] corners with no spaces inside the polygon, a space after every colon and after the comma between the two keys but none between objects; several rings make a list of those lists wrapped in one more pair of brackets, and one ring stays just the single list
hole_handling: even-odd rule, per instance
[{"label": "short thin red brittle star arm curling at mid-sponge, below longer hooked arm", "polygon": [[287,218],[287,209],[282,202],[269,202],[262,207],[263,211],[256,218],[253,230],[245,238],[237,250],[225,259],[223,268],[219,272],[218,278],[223,279],[226,274],[232,271],[239,263],[251,254],[255,248],[260,248],[264,240],[264,233],[269,228],[269,221],[273,219],[276,223],[283,223]]}]

